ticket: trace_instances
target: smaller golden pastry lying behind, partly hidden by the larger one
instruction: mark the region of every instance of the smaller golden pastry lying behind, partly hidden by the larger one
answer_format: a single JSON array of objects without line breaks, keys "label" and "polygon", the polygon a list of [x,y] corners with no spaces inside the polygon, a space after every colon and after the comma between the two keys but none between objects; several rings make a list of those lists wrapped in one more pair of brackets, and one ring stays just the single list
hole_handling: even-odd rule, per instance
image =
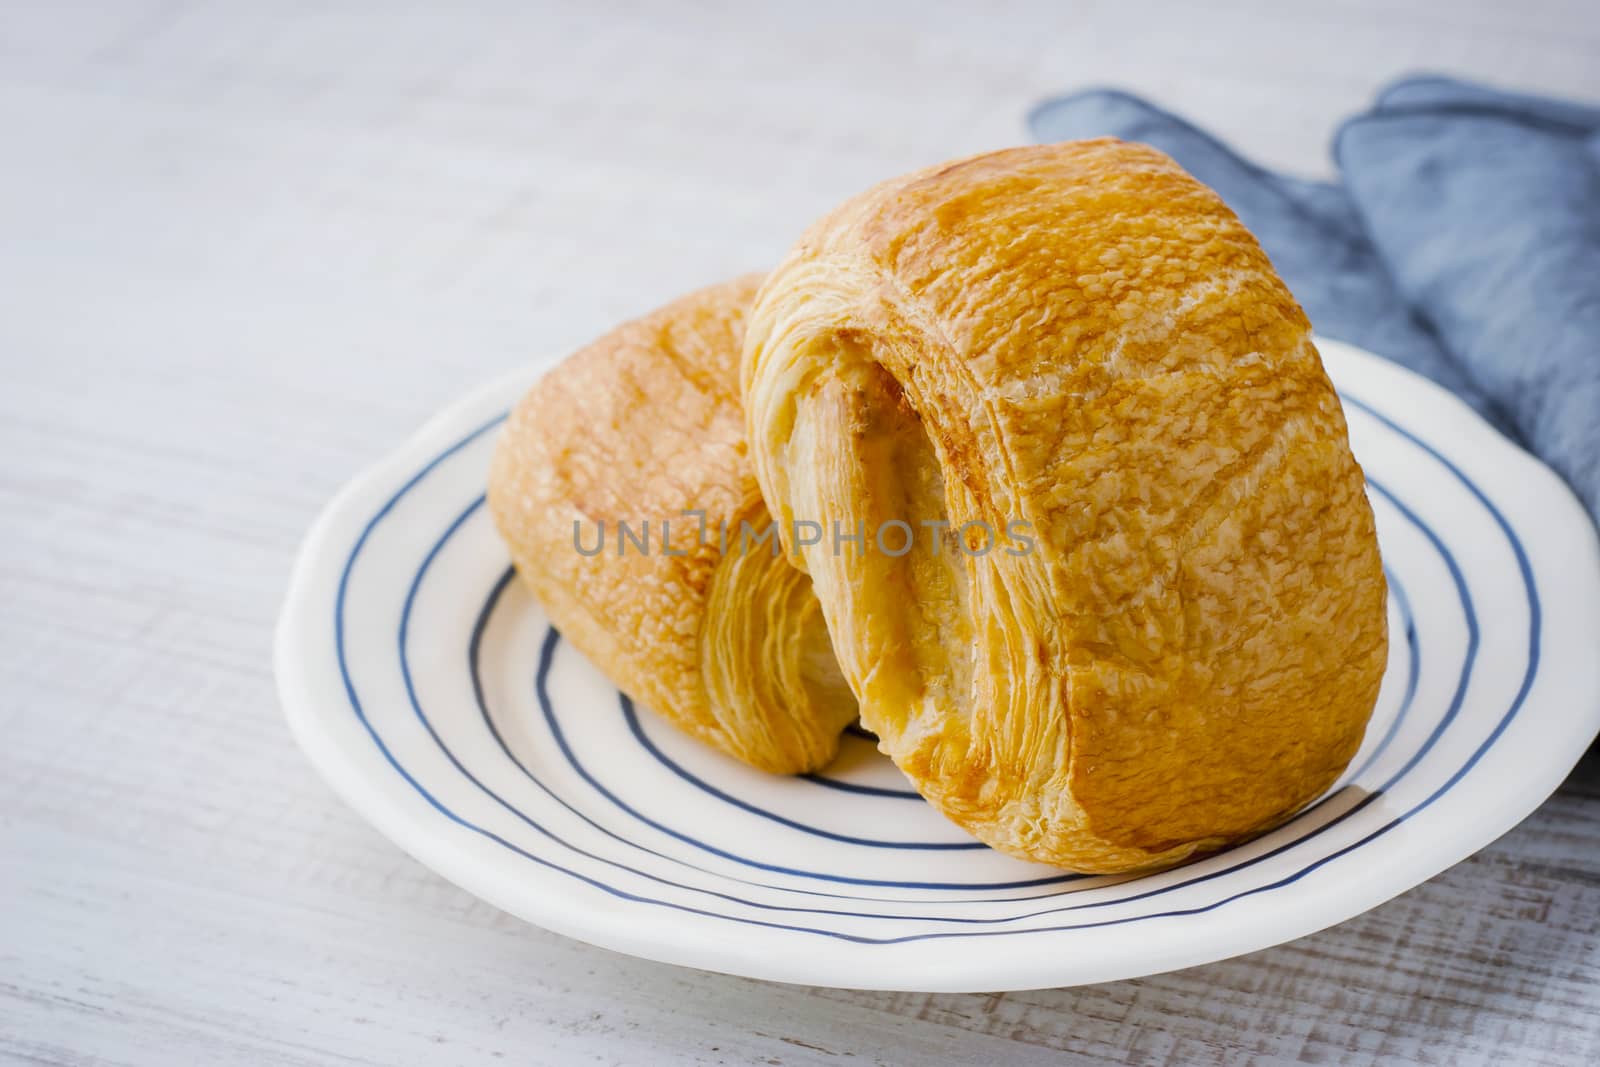
[{"label": "smaller golden pastry lying behind, partly hidden by the larger one", "polygon": [[758,283],[685,296],[555,368],[506,424],[488,499],[552,622],[624,693],[797,773],[834,757],[856,702],[810,579],[758,541],[771,517],[738,400]]}]

